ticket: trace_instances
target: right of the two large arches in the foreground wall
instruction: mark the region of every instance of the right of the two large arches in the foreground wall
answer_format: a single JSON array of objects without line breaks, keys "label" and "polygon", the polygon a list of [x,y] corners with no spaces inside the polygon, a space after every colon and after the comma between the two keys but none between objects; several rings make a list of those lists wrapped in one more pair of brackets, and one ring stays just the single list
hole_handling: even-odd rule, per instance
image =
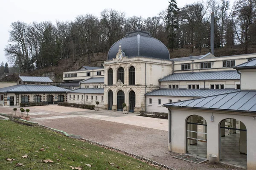
[{"label": "right of the two large arches in the foreground wall", "polygon": [[221,121],[220,161],[247,167],[247,131],[243,122],[232,118]]}]

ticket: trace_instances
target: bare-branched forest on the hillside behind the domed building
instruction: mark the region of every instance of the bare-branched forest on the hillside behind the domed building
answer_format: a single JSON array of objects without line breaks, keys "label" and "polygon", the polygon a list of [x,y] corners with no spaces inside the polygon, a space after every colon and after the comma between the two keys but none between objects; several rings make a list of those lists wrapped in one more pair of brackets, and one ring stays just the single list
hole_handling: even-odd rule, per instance
[{"label": "bare-branched forest on the hillside behind the domed building", "polygon": [[137,30],[137,24],[163,42],[171,56],[177,49],[200,54],[209,51],[211,11],[215,14],[216,50],[239,47],[247,54],[248,48],[256,45],[255,0],[238,0],[234,4],[229,0],[209,0],[182,8],[170,0],[166,8],[148,18],[126,17],[124,12],[105,9],[100,17],[79,15],[66,22],[17,21],[9,31],[6,57],[23,73],[58,66],[62,59],[71,63],[82,59],[87,65],[94,65],[95,60],[102,59],[95,59],[102,56],[98,54],[107,54],[114,42]]}]

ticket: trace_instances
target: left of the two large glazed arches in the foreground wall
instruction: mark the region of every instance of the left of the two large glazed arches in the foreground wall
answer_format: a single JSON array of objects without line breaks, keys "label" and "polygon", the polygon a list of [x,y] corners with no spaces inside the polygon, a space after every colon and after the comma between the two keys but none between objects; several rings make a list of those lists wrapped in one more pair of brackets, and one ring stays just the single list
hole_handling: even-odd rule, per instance
[{"label": "left of the two large glazed arches in the foreground wall", "polygon": [[207,122],[201,116],[192,115],[187,119],[186,152],[207,157]]}]

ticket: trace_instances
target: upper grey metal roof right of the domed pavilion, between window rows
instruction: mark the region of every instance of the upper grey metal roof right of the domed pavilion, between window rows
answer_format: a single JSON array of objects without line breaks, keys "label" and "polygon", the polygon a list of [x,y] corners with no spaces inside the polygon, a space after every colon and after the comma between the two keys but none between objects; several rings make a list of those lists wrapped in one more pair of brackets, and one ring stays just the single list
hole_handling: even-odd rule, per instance
[{"label": "upper grey metal roof right of the domed pavilion, between window rows", "polygon": [[194,73],[175,73],[160,79],[159,81],[189,81],[189,80],[223,80],[240,79],[237,71],[207,71]]}]

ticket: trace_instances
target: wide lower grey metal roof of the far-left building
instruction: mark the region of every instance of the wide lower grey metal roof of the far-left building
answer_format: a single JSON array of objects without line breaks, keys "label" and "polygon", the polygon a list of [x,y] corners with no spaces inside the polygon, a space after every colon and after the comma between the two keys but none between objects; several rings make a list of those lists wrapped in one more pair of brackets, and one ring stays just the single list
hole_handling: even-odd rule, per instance
[{"label": "wide lower grey metal roof of the far-left building", "polygon": [[67,89],[59,88],[54,85],[13,85],[0,88],[2,93],[40,93],[40,92],[66,92]]}]

